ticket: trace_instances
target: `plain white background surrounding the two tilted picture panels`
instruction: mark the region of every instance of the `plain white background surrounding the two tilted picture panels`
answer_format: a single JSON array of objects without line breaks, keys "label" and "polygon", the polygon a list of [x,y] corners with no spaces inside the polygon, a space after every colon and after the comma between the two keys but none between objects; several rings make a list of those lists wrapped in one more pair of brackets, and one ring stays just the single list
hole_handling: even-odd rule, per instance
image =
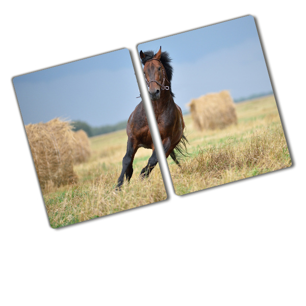
[{"label": "plain white background surrounding the two tilted picture panels", "polygon": [[[300,3],[2,5],[2,304],[305,305]],[[122,47],[134,52],[141,72],[138,43],[249,14],[260,32],[293,166],[181,197],[170,187],[166,201],[51,228],[12,78]]]}]

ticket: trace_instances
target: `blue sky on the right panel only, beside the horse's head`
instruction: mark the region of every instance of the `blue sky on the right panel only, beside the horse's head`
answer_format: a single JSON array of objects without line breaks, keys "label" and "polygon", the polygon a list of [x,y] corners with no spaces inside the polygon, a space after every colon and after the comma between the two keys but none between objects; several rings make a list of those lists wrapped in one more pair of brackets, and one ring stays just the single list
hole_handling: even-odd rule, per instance
[{"label": "blue sky on the right panel only, beside the horse's head", "polygon": [[252,16],[141,43],[138,52],[160,46],[172,58],[172,90],[183,110],[192,98],[224,89],[234,99],[272,91]]}]

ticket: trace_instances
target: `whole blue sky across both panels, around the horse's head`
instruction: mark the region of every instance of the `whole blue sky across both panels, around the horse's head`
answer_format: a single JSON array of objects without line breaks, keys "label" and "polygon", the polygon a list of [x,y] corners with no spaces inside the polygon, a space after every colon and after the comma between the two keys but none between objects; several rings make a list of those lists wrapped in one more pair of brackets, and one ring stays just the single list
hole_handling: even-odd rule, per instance
[{"label": "whole blue sky across both panels, around the horse's head", "polygon": [[[172,58],[172,90],[182,110],[209,92],[226,89],[238,99],[272,91],[252,16],[141,43],[138,52],[160,46]],[[134,73],[129,50],[121,49],[21,75],[13,83],[24,124],[62,117],[101,126],[127,120],[140,102]]]}]

